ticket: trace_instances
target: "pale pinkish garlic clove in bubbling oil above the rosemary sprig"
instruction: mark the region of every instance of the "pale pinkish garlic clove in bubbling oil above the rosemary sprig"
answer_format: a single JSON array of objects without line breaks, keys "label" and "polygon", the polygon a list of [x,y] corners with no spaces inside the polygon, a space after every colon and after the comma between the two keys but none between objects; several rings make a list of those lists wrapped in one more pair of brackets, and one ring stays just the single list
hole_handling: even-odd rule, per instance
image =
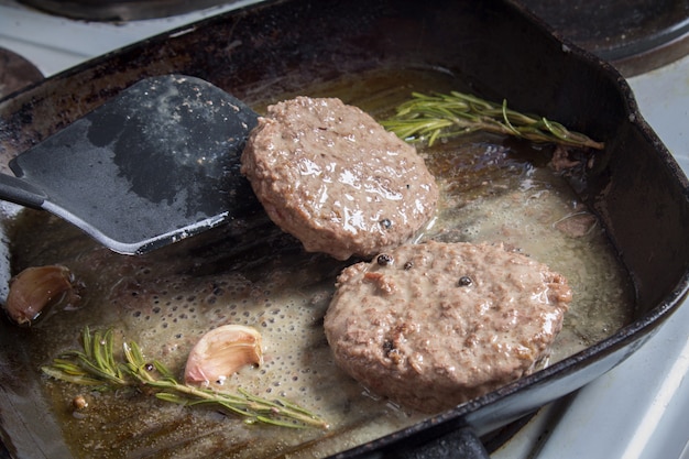
[{"label": "pale pinkish garlic clove in bubbling oil above the rosemary sprig", "polygon": [[187,359],[187,383],[222,383],[244,365],[263,363],[261,334],[243,325],[223,325],[196,343]]}]

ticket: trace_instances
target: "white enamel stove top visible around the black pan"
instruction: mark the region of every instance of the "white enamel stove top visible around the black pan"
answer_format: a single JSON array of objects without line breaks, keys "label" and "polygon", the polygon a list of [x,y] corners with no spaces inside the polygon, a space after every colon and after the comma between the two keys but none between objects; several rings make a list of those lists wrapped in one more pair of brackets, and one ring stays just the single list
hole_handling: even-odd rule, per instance
[{"label": "white enamel stove top visible around the black pan", "polygon": [[[125,24],[90,23],[37,13],[0,0],[0,46],[51,76],[165,30],[255,3]],[[689,174],[689,56],[628,81],[641,112]],[[620,367],[555,403],[493,459],[689,459],[689,306]]]}]

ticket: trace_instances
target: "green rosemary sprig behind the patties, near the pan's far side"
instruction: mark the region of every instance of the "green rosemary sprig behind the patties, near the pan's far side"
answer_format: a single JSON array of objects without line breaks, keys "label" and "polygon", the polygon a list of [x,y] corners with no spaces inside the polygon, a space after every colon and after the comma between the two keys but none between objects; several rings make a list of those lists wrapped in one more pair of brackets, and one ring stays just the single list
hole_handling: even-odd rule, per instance
[{"label": "green rosemary sprig behind the patties, near the pan's far side", "polygon": [[381,124],[403,140],[426,141],[428,145],[440,139],[486,131],[534,142],[604,147],[602,142],[558,122],[508,109],[506,100],[497,105],[459,91],[434,96],[413,92],[412,99],[400,105],[396,114]]}]

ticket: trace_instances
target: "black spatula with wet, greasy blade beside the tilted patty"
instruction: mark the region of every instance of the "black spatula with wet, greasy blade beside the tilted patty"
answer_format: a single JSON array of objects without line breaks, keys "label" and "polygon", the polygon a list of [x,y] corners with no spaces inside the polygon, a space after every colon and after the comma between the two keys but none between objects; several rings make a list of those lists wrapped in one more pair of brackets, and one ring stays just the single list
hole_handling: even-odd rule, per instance
[{"label": "black spatula with wet, greasy blade beside the tilted patty", "polygon": [[236,216],[258,114],[208,81],[142,80],[17,156],[0,198],[48,210],[120,253],[144,253]]}]

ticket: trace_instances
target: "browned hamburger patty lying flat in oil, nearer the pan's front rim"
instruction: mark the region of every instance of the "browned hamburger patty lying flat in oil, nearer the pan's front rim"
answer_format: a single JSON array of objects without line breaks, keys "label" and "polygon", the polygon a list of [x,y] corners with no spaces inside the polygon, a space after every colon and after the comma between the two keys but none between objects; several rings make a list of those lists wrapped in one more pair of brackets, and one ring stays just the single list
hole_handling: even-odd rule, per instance
[{"label": "browned hamburger patty lying flat in oil, nearer the pan's front rim", "polygon": [[561,275],[502,245],[405,244],[341,272],[325,330],[372,392],[438,412],[533,372],[570,299]]}]

